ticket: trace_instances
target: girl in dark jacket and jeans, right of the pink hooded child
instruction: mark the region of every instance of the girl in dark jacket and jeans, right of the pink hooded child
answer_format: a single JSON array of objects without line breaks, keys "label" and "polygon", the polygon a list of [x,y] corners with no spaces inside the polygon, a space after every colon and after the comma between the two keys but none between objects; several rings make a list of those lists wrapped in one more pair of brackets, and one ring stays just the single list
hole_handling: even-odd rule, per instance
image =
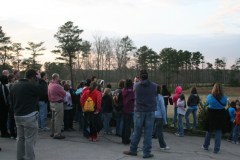
[{"label": "girl in dark jacket and jeans, right of the pink hooded child", "polygon": [[200,98],[198,96],[197,89],[196,87],[193,87],[191,90],[191,95],[188,97],[188,100],[187,100],[188,109],[185,115],[187,129],[190,129],[189,115],[191,113],[193,115],[192,129],[195,130],[197,127],[197,108],[198,108],[199,102],[200,102]]}]

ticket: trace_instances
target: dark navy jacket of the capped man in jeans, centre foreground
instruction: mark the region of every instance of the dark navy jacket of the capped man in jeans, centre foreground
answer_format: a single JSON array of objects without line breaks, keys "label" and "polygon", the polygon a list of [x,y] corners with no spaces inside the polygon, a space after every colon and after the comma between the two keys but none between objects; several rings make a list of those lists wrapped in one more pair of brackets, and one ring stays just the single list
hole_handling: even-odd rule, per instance
[{"label": "dark navy jacket of the capped man in jeans, centre foreground", "polygon": [[157,84],[142,80],[133,86],[135,92],[135,112],[154,112],[156,111]]}]

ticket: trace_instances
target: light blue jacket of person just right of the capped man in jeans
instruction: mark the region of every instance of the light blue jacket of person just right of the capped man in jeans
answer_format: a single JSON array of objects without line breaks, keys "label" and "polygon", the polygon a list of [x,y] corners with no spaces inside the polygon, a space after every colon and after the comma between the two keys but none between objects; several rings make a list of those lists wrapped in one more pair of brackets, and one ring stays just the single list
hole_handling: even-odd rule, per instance
[{"label": "light blue jacket of person just right of the capped man in jeans", "polygon": [[163,121],[166,123],[167,122],[166,109],[164,105],[163,96],[159,94],[156,97],[156,100],[157,100],[157,110],[155,111],[155,118],[162,118]]}]

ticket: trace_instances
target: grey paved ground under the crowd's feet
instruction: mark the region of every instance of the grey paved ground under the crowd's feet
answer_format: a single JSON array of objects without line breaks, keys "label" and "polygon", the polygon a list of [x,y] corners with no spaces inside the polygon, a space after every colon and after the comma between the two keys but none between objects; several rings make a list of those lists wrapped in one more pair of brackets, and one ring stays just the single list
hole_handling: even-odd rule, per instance
[{"label": "grey paved ground under the crowd's feet", "polygon": [[[121,144],[121,139],[114,135],[102,135],[98,142],[89,142],[79,131],[64,132],[66,139],[56,140],[49,137],[49,132],[39,133],[36,144],[37,160],[136,160],[142,159],[142,141],[138,156],[122,154],[128,150],[128,145]],[[157,139],[153,139],[152,160],[239,160],[240,145],[222,140],[219,154],[213,153],[212,139],[210,150],[201,149],[203,137],[176,137],[165,133],[165,140],[171,150],[160,151]],[[0,138],[0,160],[15,160],[16,141]]]}]

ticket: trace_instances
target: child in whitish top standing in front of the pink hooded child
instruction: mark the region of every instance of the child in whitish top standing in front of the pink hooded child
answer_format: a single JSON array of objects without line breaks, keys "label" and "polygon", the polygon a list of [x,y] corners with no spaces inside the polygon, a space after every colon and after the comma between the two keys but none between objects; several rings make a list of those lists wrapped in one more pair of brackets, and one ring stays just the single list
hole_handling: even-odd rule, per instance
[{"label": "child in whitish top standing in front of the pink hooded child", "polygon": [[186,101],[184,94],[180,94],[177,100],[177,113],[178,113],[178,131],[175,133],[178,137],[184,136],[184,129],[183,129],[183,117],[186,113]]}]

